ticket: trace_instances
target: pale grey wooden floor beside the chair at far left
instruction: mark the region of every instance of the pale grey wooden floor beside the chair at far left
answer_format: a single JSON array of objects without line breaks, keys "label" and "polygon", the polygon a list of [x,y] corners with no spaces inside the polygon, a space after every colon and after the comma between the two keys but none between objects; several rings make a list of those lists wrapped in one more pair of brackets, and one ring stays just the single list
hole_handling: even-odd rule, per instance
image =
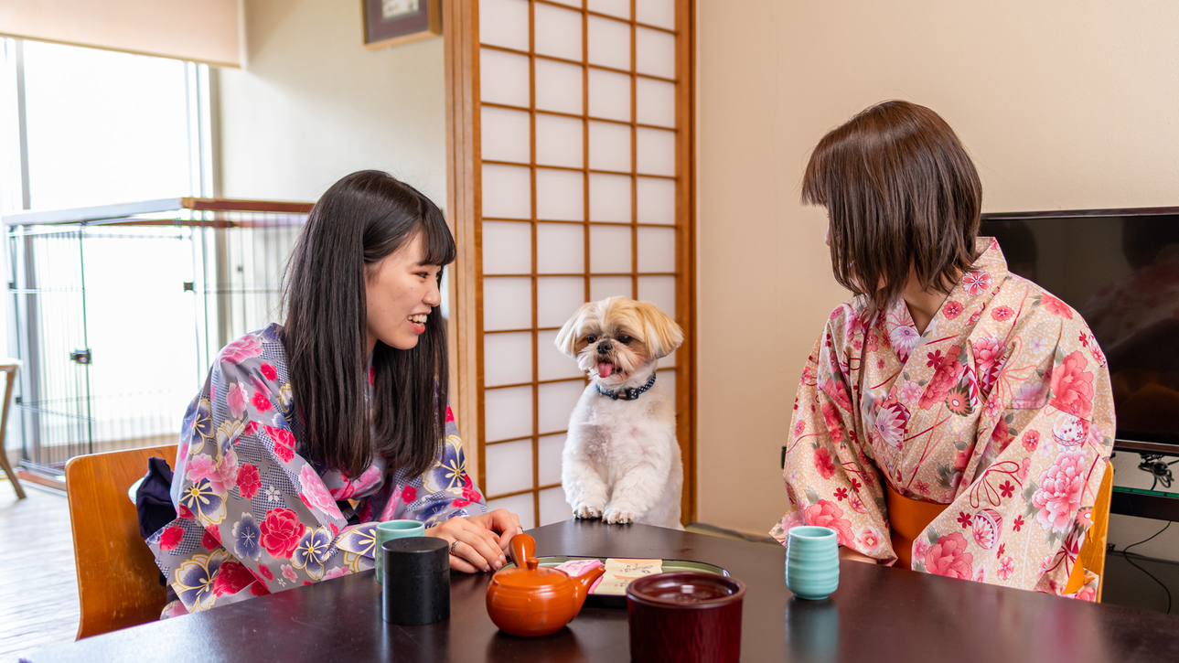
[{"label": "pale grey wooden floor beside the chair at far left", "polygon": [[[0,472],[0,475],[4,473]],[[0,661],[72,642],[78,632],[70,508],[61,494],[0,480]]]}]

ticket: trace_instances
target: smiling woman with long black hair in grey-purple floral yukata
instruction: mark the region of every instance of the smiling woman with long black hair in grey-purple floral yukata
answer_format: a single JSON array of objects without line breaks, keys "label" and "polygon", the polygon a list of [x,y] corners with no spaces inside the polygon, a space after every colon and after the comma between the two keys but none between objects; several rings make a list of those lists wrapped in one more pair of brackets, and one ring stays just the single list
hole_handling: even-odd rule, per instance
[{"label": "smiling woman with long black hair in grey-purple floral yukata", "polygon": [[165,616],[371,569],[383,520],[423,521],[454,570],[503,565],[520,519],[487,513],[447,406],[454,258],[439,208],[384,172],[320,198],[285,324],[226,346],[185,414],[178,517],[147,539],[177,598]]}]

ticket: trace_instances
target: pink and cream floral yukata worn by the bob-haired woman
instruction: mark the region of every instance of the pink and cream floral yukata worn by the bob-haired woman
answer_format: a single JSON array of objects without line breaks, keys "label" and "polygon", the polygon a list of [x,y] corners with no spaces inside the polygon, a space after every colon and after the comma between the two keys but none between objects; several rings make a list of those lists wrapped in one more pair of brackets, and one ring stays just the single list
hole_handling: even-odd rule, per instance
[{"label": "pink and cream floral yukata worn by the bob-haired woman", "polygon": [[[900,300],[831,314],[803,370],[790,511],[771,534],[823,525],[893,564],[888,481],[948,505],[914,540],[914,570],[1063,593],[1113,448],[1106,360],[1076,311],[980,242],[924,334]],[[1095,582],[1087,572],[1076,596]]]}]

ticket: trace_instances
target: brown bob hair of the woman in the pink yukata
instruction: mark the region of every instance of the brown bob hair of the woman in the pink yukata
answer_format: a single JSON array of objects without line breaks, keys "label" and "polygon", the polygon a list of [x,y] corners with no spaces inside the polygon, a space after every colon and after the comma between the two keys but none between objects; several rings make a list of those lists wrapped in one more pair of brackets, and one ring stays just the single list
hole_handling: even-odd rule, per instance
[{"label": "brown bob hair of the woman in the pink yukata", "polygon": [[878,310],[910,268],[923,289],[949,293],[977,257],[979,172],[946,120],[917,104],[877,104],[824,136],[802,199],[826,208],[835,280]]}]

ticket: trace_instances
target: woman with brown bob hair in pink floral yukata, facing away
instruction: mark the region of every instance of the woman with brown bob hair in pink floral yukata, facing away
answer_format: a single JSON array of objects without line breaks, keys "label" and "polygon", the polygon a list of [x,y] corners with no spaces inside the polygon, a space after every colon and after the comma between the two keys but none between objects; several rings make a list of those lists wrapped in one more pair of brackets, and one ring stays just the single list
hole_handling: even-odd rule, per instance
[{"label": "woman with brown bob hair in pink floral yukata, facing away", "polygon": [[841,556],[1081,598],[1113,447],[1105,356],[1081,316],[977,237],[982,186],[935,112],[885,101],[819,140],[836,308],[803,369],[771,532]]}]

